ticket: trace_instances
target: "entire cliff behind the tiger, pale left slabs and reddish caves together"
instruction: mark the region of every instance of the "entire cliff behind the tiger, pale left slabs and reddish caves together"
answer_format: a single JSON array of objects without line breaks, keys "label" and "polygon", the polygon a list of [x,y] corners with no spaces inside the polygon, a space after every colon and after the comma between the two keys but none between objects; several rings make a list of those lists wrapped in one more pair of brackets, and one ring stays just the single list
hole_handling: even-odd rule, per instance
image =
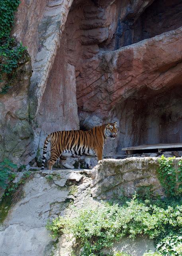
[{"label": "entire cliff behind the tiger, pale left slabs and reddish caves together", "polygon": [[21,1],[12,35],[32,61],[30,158],[50,132],[115,120],[105,156],[181,141],[181,15],[180,0]]}]

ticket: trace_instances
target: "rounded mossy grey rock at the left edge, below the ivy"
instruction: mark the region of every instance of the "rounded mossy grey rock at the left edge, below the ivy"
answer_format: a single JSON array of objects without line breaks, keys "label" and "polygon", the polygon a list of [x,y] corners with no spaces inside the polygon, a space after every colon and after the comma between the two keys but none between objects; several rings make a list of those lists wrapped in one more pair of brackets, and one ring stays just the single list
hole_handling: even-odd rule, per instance
[{"label": "rounded mossy grey rock at the left edge, below the ivy", "polygon": [[30,77],[31,60],[25,52],[12,78],[3,76],[3,82],[0,82],[0,91],[5,84],[10,83],[8,93],[0,95],[0,162],[5,157],[19,165],[31,160],[33,130],[29,123],[28,108]]}]

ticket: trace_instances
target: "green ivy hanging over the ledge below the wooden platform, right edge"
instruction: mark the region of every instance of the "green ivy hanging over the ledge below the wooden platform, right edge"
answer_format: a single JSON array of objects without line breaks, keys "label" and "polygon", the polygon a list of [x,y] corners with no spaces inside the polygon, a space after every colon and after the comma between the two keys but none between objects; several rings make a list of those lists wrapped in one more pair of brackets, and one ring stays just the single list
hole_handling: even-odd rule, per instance
[{"label": "green ivy hanging over the ledge below the wooden platform, right edge", "polygon": [[166,158],[162,155],[158,160],[158,178],[168,197],[176,197],[182,194],[182,160],[178,163],[178,170],[175,170],[174,158],[175,156]]}]

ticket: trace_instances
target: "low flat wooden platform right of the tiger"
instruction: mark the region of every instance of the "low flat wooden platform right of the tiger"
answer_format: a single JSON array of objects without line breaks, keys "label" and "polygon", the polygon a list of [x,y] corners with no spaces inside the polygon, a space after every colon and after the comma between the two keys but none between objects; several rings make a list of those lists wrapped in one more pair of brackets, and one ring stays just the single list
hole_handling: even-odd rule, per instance
[{"label": "low flat wooden platform right of the tiger", "polygon": [[169,144],[143,144],[135,147],[122,148],[126,154],[134,154],[137,150],[151,150],[158,149],[158,152],[162,152],[167,148],[182,148],[182,143],[169,143]]}]

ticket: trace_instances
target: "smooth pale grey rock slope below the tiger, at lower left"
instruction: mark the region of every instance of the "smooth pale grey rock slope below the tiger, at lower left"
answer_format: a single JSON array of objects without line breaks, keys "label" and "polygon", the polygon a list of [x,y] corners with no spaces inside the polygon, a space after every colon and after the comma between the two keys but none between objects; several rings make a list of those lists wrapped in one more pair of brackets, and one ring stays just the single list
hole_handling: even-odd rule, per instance
[{"label": "smooth pale grey rock slope below the tiger, at lower left", "polygon": [[[18,173],[18,176],[20,174]],[[58,215],[74,216],[72,206],[82,208],[98,204],[90,194],[91,178],[83,177],[73,170],[53,171],[51,180],[47,179],[45,174],[46,171],[32,172],[32,178],[23,187],[23,197],[12,206],[0,226],[0,255],[49,256],[55,248],[45,228],[47,220]],[[80,178],[83,179],[81,184],[76,182],[80,181]],[[60,187],[56,184],[58,181],[70,179],[76,182],[74,190],[72,185]],[[10,241],[16,241],[16,245],[10,246]],[[70,243],[64,241],[60,241],[63,247],[65,243]],[[60,253],[64,251],[61,246],[58,248]],[[59,252],[57,255],[63,256]]]}]

